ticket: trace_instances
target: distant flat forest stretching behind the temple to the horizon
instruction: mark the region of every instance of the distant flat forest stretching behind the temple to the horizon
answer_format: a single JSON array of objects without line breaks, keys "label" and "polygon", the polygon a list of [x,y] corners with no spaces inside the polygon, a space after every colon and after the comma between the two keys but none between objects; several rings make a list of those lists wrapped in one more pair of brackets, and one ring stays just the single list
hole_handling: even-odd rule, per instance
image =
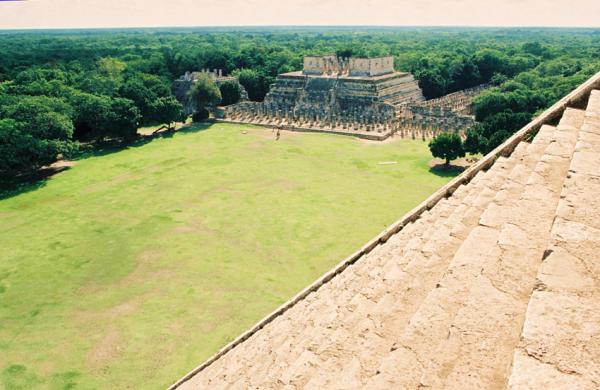
[{"label": "distant flat forest stretching behind the temple to the horizon", "polygon": [[393,55],[415,74],[428,99],[508,78],[566,56],[598,55],[598,30],[549,29],[179,29],[0,35],[0,80],[47,63],[90,69],[119,58],[132,70],[172,80],[185,71],[223,69],[262,100],[279,73],[300,69],[307,54]]}]

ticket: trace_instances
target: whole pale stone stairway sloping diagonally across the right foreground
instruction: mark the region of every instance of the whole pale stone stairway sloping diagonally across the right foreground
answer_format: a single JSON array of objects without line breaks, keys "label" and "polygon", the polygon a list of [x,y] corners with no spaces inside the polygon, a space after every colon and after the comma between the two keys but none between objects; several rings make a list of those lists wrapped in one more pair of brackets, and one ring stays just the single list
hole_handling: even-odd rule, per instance
[{"label": "whole pale stone stairway sloping diagonally across the right foreground", "polygon": [[598,89],[600,73],[172,388],[599,389]]}]

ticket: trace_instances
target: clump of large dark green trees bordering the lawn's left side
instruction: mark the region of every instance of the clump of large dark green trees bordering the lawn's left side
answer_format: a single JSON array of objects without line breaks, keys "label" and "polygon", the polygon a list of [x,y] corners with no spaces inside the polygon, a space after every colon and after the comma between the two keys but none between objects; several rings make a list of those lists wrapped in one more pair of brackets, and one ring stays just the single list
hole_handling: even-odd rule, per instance
[{"label": "clump of large dark green trees bordering the lawn's left side", "polygon": [[0,175],[38,169],[80,142],[131,141],[140,125],[182,120],[170,81],[120,60],[33,65],[0,84]]}]

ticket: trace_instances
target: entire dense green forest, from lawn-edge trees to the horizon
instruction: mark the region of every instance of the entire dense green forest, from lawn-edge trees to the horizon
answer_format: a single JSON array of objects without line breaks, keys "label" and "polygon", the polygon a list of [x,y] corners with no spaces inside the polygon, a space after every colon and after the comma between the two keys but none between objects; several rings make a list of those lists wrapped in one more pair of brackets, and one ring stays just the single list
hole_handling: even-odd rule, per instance
[{"label": "entire dense green forest, from lawn-edge trees to the horizon", "polygon": [[466,143],[487,152],[600,70],[600,30],[4,31],[0,53],[0,174],[14,175],[68,155],[78,142],[128,141],[140,125],[178,120],[170,85],[185,71],[223,69],[262,100],[276,75],[300,69],[307,54],[393,55],[427,98],[492,83],[475,102],[480,123]]}]

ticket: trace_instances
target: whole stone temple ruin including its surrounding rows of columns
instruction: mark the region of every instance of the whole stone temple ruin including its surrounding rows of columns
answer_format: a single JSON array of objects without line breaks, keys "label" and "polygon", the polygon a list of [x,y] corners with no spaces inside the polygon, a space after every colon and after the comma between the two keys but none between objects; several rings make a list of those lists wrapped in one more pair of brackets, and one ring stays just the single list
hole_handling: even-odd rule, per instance
[{"label": "whole stone temple ruin including its surrounding rows of columns", "polygon": [[324,131],[382,140],[392,134],[423,138],[464,132],[474,120],[468,107],[481,88],[425,102],[410,73],[394,58],[304,58],[302,71],[280,74],[264,102],[225,107],[225,121]]}]

